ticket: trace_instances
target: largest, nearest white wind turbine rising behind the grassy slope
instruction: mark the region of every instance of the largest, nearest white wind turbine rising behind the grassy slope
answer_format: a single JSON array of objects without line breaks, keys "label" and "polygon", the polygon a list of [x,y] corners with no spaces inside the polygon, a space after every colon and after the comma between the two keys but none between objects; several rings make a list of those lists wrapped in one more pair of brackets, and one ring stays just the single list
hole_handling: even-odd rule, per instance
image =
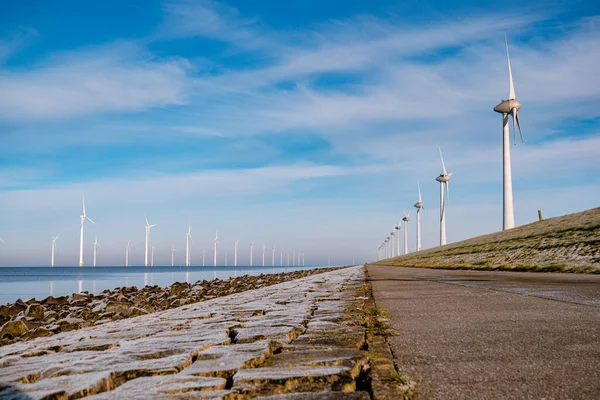
[{"label": "largest, nearest white wind turbine rising behind the grassy slope", "polygon": [[502,165],[504,168],[504,202],[502,209],[502,230],[512,229],[515,227],[515,211],[513,208],[512,199],[512,171],[510,163],[510,129],[508,127],[508,116],[512,116],[513,124],[513,137],[515,145],[517,144],[517,130],[515,122],[519,128],[519,135],[521,136],[521,142],[523,141],[523,134],[521,133],[521,121],[519,120],[519,110],[521,109],[521,103],[515,96],[515,85],[512,80],[512,70],[510,68],[510,56],[508,55],[508,40],[504,37],[506,44],[506,60],[508,61],[508,80],[509,80],[509,93],[508,100],[502,100],[500,104],[494,107],[494,111],[502,114]]}]

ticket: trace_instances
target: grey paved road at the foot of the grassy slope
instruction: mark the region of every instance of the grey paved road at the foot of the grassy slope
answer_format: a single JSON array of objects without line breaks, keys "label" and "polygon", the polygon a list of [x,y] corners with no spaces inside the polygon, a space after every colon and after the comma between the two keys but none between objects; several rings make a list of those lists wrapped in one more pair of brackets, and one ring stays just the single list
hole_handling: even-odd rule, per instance
[{"label": "grey paved road at the foot of the grassy slope", "polygon": [[600,399],[600,276],[369,266],[432,399]]}]

